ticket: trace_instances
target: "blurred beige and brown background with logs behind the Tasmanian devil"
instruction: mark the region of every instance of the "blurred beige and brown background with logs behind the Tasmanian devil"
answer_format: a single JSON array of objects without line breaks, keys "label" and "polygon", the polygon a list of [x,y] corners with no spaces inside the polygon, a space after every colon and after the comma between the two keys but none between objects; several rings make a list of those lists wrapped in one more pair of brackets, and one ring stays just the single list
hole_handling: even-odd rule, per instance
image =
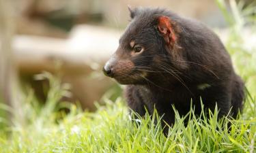
[{"label": "blurred beige and brown background with logs behind the Tasmanian devil", "polygon": [[[254,9],[253,2],[220,3],[225,3],[227,12],[231,12],[232,3],[242,4],[242,10],[248,5]],[[68,83],[66,88],[70,92],[63,101],[94,110],[95,101],[102,103],[102,99],[122,95],[122,86],[104,77],[101,69],[115,52],[119,36],[128,24],[127,5],[165,7],[181,16],[195,18],[215,29],[227,42],[226,29],[232,20],[222,12],[220,3],[212,0],[0,0],[0,101],[18,111],[23,95],[33,92],[44,103],[49,82],[38,74],[48,71]],[[255,15],[255,11],[247,13]],[[244,43],[256,43],[251,31],[245,30],[243,34],[248,38]],[[240,71],[243,73],[246,72]]]}]

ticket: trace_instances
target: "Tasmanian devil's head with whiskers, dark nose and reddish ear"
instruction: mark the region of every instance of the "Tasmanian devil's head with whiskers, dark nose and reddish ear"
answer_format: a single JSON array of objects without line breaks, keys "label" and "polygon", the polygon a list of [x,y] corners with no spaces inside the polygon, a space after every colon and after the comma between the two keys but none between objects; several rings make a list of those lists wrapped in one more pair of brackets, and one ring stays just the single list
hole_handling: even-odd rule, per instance
[{"label": "Tasmanian devil's head with whiskers, dark nose and reddish ear", "polygon": [[120,84],[147,84],[186,69],[184,63],[177,64],[184,57],[177,20],[171,18],[175,14],[150,8],[129,10],[132,20],[115,54],[104,65],[105,75]]}]

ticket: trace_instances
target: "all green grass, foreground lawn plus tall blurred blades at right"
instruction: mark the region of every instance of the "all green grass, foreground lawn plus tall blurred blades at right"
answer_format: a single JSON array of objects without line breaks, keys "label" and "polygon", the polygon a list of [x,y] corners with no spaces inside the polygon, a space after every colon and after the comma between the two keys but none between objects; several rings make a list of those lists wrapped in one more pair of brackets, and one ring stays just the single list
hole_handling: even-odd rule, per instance
[{"label": "all green grass, foreground lawn plus tall blurred blades at right", "polygon": [[[240,11],[234,6],[232,10]],[[96,112],[83,112],[61,101],[69,95],[67,84],[43,73],[36,78],[50,80],[45,105],[30,90],[20,107],[23,120],[10,120],[8,114],[16,114],[16,110],[0,103],[0,152],[256,152],[256,48],[244,46],[241,31],[246,24],[236,24],[246,16],[225,14],[231,23],[225,46],[250,93],[240,119],[217,121],[215,111],[210,119],[199,120],[192,110],[186,116],[190,118],[187,126],[184,117],[176,114],[176,122],[165,136],[157,113],[133,120],[121,97],[104,99],[106,105],[97,105]],[[253,26],[248,29],[253,35]],[[227,121],[231,122],[229,131]]]}]

